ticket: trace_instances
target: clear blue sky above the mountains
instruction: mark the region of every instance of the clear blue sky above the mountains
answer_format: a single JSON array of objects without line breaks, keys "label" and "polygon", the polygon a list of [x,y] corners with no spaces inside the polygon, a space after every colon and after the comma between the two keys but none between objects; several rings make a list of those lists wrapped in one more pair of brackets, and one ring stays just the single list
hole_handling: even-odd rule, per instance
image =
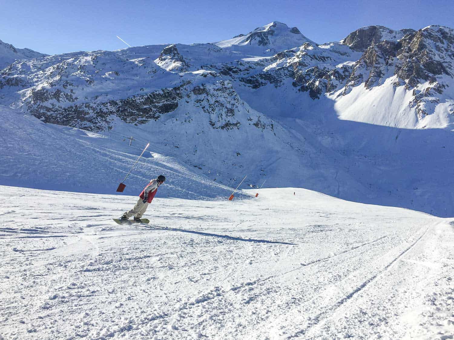
[{"label": "clear blue sky above the mountains", "polygon": [[454,0],[116,1],[0,0],[0,40],[55,54],[168,43],[207,43],[281,21],[317,43],[362,26],[454,28]]}]

